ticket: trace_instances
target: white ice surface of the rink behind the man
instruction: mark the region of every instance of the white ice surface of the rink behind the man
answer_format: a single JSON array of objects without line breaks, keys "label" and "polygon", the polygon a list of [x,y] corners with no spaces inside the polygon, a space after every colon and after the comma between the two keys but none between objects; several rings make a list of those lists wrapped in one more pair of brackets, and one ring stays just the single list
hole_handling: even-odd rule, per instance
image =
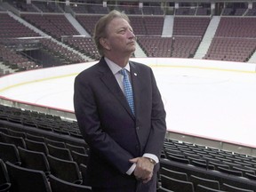
[{"label": "white ice surface of the rink behind the man", "polygon": [[[167,112],[167,128],[256,147],[256,73],[220,68],[152,65]],[[73,111],[78,73],[0,89],[0,95]]]}]

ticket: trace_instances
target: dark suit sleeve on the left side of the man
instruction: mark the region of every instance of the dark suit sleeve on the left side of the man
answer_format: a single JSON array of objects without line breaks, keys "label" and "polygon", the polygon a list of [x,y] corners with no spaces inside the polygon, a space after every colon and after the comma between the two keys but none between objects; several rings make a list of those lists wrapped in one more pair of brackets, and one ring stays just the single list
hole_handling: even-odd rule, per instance
[{"label": "dark suit sleeve on the left side of the man", "polygon": [[97,108],[97,101],[90,83],[83,81],[84,79],[76,76],[74,89],[74,108],[77,123],[84,136],[84,140],[88,143],[93,151],[97,152],[108,163],[116,166],[120,172],[127,172],[132,166],[129,159],[132,155],[121,148],[108,133],[104,132],[100,127],[100,117]]}]

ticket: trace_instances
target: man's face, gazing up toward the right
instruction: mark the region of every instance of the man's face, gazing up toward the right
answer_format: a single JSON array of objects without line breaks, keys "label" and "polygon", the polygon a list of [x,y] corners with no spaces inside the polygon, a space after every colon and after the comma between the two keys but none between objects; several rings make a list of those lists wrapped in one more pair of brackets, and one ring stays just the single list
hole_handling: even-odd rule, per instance
[{"label": "man's face, gazing up toward the right", "polygon": [[132,27],[126,20],[122,18],[112,20],[108,24],[107,34],[108,51],[120,55],[135,52],[135,36]]}]

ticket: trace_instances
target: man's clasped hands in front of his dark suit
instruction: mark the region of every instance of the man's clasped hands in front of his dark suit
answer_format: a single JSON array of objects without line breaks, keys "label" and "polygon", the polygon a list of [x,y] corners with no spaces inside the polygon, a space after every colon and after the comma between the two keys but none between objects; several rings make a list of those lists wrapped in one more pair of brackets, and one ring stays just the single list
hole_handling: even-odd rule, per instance
[{"label": "man's clasped hands in front of his dark suit", "polygon": [[147,183],[153,176],[154,164],[147,157],[137,157],[130,159],[130,162],[136,164],[133,172],[137,180]]}]

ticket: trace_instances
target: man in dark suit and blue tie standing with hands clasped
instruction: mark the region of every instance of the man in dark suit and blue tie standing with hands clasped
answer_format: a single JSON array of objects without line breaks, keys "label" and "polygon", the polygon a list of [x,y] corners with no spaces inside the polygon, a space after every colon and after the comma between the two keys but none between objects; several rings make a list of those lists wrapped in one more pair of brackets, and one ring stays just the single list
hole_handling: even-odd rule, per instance
[{"label": "man in dark suit and blue tie standing with hands clasped", "polygon": [[129,61],[136,37],[124,13],[102,17],[93,38],[102,57],[76,76],[74,93],[77,122],[90,147],[86,185],[95,192],[156,192],[166,125],[153,72]]}]

